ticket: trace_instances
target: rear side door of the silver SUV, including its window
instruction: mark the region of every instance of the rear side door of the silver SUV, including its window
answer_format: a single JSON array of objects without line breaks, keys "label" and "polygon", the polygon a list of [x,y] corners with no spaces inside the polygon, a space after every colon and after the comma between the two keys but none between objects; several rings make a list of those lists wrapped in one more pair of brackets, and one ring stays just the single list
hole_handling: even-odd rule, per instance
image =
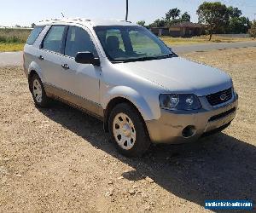
[{"label": "rear side door of the silver SUV, including its window", "polygon": [[64,37],[67,26],[51,26],[44,37],[38,54],[39,65],[43,71],[44,83],[61,89],[63,87],[62,62]]}]

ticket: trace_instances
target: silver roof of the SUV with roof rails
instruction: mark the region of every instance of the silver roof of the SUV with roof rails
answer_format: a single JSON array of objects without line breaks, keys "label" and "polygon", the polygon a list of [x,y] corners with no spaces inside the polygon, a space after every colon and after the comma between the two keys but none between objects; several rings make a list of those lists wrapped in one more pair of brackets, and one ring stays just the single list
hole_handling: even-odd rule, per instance
[{"label": "silver roof of the SUV with roof rails", "polygon": [[42,25],[53,25],[53,24],[67,24],[75,23],[82,24],[84,26],[135,26],[131,21],[126,20],[96,20],[87,18],[63,18],[63,19],[53,19],[53,20],[41,20],[38,22],[37,26]]}]

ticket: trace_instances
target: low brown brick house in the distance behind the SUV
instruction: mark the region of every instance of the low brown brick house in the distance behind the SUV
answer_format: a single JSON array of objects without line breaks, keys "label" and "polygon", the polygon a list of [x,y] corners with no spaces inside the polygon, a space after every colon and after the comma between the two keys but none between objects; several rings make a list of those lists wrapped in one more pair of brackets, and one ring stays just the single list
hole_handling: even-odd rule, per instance
[{"label": "low brown brick house in the distance behind the SUV", "polygon": [[150,30],[157,36],[193,37],[200,36],[204,27],[201,24],[183,21],[170,27],[152,27]]}]

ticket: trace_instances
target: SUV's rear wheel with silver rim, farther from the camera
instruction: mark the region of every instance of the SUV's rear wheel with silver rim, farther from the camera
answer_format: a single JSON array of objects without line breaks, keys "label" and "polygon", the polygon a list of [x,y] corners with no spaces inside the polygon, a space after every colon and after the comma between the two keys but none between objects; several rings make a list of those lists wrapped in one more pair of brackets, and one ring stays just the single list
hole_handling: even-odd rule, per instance
[{"label": "SUV's rear wheel with silver rim, farther from the camera", "polygon": [[45,93],[44,84],[38,74],[34,74],[30,79],[29,88],[37,107],[49,107],[49,97]]}]

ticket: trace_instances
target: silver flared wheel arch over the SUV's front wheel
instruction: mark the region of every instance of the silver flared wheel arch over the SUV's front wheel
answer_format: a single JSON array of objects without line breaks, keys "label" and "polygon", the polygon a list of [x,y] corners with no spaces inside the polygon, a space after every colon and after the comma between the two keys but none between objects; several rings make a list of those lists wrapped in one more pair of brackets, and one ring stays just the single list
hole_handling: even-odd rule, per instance
[{"label": "silver flared wheel arch over the SUV's front wheel", "polygon": [[137,107],[138,111],[141,112],[145,121],[154,119],[154,113],[148,105],[148,102],[140,95],[135,89],[131,89],[126,86],[116,86],[109,89],[108,92],[102,97],[102,107],[106,109],[108,103],[114,98],[121,97]]}]

